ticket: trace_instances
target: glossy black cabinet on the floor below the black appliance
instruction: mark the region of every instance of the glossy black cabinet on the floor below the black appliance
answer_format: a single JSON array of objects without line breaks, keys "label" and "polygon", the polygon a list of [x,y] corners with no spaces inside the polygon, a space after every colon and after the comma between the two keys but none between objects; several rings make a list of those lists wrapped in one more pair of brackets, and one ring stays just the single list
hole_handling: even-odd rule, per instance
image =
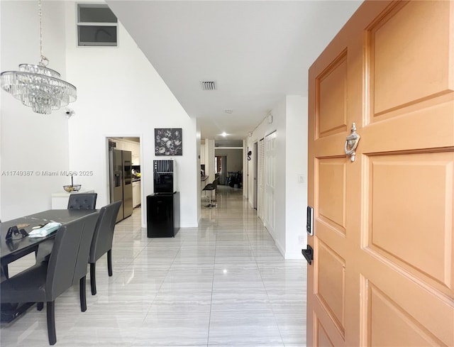
[{"label": "glossy black cabinet on the floor below the black appliance", "polygon": [[174,237],[179,231],[179,192],[147,197],[147,236]]}]

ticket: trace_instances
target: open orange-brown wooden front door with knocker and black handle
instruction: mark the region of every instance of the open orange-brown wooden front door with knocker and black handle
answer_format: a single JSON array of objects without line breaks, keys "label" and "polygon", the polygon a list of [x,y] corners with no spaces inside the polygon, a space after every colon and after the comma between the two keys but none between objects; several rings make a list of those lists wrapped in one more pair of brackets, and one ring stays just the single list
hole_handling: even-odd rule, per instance
[{"label": "open orange-brown wooden front door with knocker and black handle", "polygon": [[453,28],[365,1],[309,70],[307,346],[454,346]]}]

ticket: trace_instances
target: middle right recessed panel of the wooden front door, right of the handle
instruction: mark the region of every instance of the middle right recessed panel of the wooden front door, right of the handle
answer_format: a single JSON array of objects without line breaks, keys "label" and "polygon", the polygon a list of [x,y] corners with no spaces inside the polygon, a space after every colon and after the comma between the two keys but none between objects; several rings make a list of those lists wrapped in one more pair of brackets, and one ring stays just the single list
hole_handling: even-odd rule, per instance
[{"label": "middle right recessed panel of the wooden front door, right of the handle", "polygon": [[453,289],[454,153],[375,156],[367,171],[367,247]]}]

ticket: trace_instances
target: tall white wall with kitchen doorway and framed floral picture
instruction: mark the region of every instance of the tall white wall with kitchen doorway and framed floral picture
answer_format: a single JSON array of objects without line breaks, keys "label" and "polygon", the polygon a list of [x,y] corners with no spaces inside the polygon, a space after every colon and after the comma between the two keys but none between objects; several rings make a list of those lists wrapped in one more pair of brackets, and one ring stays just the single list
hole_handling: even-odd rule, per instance
[{"label": "tall white wall with kitchen doorway and framed floral picture", "polygon": [[[92,170],[77,183],[98,193],[98,206],[109,202],[106,137],[140,137],[143,197],[153,193],[154,129],[182,128],[183,155],[175,156],[181,199],[181,226],[197,226],[196,121],[187,116],[133,39],[118,23],[118,47],[77,47],[76,4],[66,1],[67,76],[78,89],[70,119],[72,170]],[[167,157],[166,157],[167,158]],[[168,157],[170,159],[170,157]],[[146,226],[146,202],[142,226]]]}]

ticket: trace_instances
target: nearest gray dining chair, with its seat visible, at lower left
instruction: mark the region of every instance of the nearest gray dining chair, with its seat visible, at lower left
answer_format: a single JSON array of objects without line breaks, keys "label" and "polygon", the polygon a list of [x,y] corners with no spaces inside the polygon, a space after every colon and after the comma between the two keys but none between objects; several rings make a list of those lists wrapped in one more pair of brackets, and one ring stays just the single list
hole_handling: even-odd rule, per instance
[{"label": "nearest gray dining chair, with its seat visible, at lower left", "polygon": [[[40,310],[43,309],[43,302],[46,302],[50,345],[57,342],[55,299],[70,288],[75,277],[80,275],[77,273],[76,276],[77,260],[79,255],[86,256],[90,246],[89,243],[82,244],[82,241],[93,235],[97,216],[89,214],[59,228],[47,262],[36,263],[0,283],[1,303],[38,302]],[[87,265],[85,267],[87,273]],[[86,303],[81,302],[81,309],[84,306]]]}]

